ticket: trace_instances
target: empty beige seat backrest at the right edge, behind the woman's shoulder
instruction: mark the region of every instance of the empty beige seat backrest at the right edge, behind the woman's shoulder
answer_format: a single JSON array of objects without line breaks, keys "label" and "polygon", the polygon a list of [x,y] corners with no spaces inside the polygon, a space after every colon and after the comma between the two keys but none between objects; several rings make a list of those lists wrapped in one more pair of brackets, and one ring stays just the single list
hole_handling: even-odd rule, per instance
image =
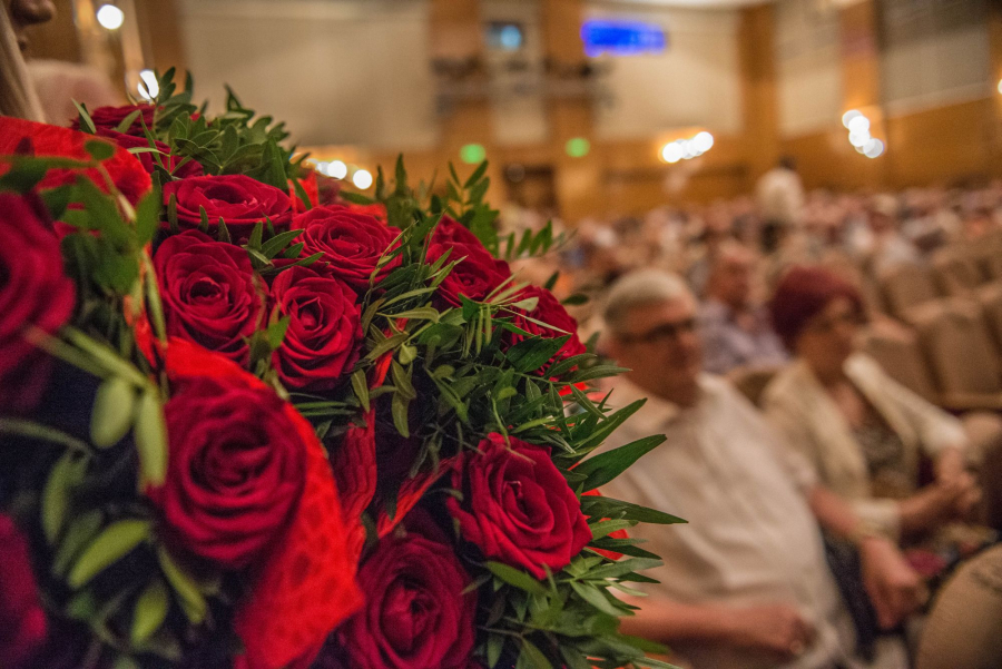
[{"label": "empty beige seat backrest at the right edge, behind the woman's shoulder", "polygon": [[999,357],[981,306],[962,298],[936,299],[908,312],[941,393],[999,393]]}]

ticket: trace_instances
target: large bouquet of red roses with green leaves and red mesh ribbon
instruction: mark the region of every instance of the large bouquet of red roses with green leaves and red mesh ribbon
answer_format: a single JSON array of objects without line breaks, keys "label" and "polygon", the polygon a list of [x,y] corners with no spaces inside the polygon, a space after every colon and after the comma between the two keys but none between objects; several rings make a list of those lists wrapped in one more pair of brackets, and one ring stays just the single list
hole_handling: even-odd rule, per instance
[{"label": "large bouquet of red roses with green leaves and red mesh ribbon", "polygon": [[611,590],[677,519],[595,494],[662,437],[589,456],[639,403],[502,259],[552,232],[159,83],[0,119],[0,666],[666,666]]}]

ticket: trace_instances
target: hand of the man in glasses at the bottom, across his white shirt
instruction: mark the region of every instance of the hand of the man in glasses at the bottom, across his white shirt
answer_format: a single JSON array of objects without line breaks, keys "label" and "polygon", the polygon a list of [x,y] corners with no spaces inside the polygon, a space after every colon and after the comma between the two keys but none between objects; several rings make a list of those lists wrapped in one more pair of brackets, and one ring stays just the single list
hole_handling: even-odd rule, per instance
[{"label": "hand of the man in glasses at the bottom, across his white shirt", "polygon": [[796,658],[814,642],[814,624],[789,604],[731,609],[729,617],[731,646],[762,651],[778,662]]}]

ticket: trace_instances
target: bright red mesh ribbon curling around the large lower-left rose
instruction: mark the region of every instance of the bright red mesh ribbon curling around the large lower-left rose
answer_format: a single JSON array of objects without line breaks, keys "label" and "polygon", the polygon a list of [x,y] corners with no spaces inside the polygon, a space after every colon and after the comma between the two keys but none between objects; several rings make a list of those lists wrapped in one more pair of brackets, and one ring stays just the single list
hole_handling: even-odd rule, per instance
[{"label": "bright red mesh ribbon curling around the large lower-left rose", "polygon": [[[189,342],[166,346],[169,378],[239,378],[264,387],[235,363]],[[236,612],[235,628],[246,648],[242,669],[308,666],[324,639],[362,604],[355,583],[357,561],[348,550],[337,488],[313,426],[291,405],[286,415],[307,449],[306,481],[284,537],[256,573]]]}]

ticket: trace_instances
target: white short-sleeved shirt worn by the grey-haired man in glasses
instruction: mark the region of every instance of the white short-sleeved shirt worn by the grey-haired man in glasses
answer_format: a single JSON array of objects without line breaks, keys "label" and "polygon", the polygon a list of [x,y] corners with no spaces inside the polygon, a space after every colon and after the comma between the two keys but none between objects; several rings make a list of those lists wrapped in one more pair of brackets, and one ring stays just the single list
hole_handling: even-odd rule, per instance
[{"label": "white short-sleeved shirt worn by the grey-haired man in glasses", "polygon": [[[777,443],[756,410],[725,380],[704,375],[696,406],[649,397],[603,449],[651,434],[668,440],[602,488],[611,498],[658,509],[684,525],[640,524],[631,537],[665,561],[648,573],[651,597],[731,607],[788,603],[817,628],[814,645],[795,661],[821,669],[848,659],[855,633],[825,562],[817,523],[805,498],[815,483],[799,454]],[[648,396],[625,378],[611,402]],[[641,602],[642,604],[642,602]],[[723,645],[672,643],[697,669],[774,667],[749,651]]]}]

